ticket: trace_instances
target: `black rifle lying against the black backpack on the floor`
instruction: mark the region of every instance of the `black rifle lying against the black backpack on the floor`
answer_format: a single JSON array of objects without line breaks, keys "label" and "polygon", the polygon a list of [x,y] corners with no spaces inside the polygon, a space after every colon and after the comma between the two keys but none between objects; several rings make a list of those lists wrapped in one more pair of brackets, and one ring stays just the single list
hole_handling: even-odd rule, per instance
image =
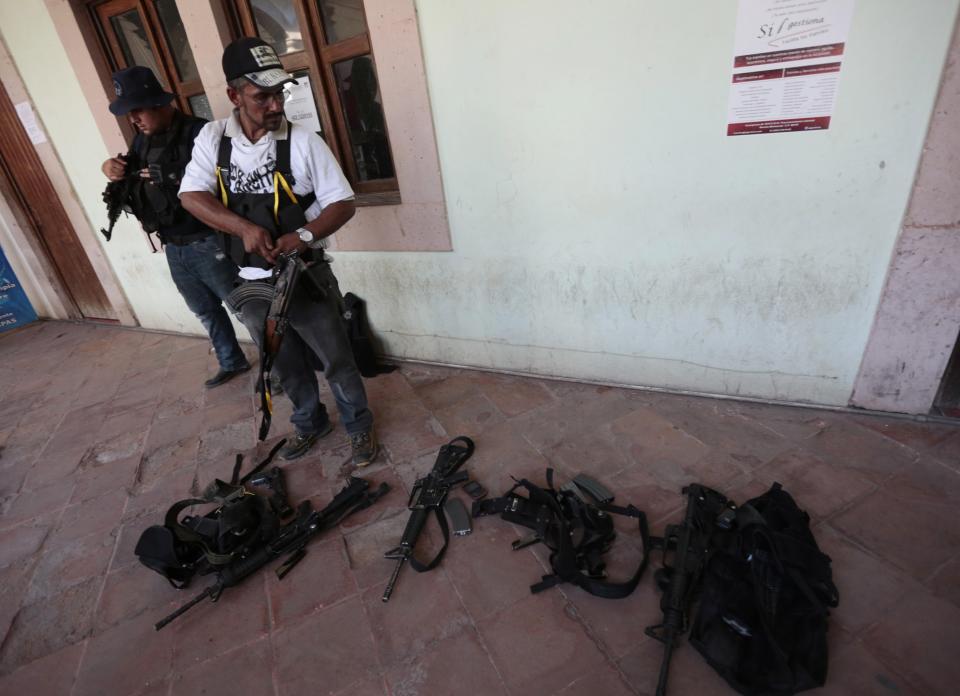
[{"label": "black rifle lying against the black backpack on the floor", "polygon": [[[663,549],[663,567],[655,575],[663,591],[660,609],[663,623],[648,626],[646,634],[663,643],[663,662],[656,696],[667,693],[670,657],[677,638],[686,632],[690,606],[700,589],[700,580],[710,553],[715,529],[729,528],[736,517],[736,506],[717,491],[692,483],[683,489],[687,511],[683,523],[667,525],[662,539],[655,544]],[[674,550],[673,566],[667,565],[668,550]]]}]

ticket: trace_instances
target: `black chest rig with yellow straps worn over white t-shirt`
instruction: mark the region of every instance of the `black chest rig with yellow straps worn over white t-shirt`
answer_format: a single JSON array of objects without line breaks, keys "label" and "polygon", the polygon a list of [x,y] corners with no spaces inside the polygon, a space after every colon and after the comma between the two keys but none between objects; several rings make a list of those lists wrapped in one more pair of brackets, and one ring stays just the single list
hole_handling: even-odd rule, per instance
[{"label": "black chest rig with yellow straps worn over white t-shirt", "polygon": [[[306,211],[317,197],[312,191],[301,196],[293,193],[296,180],[290,168],[290,140],[292,125],[287,126],[287,137],[276,140],[276,158],[270,178],[273,180],[271,193],[234,193],[230,190],[230,155],[233,152],[233,139],[226,134],[220,138],[217,152],[217,184],[220,188],[220,202],[245,220],[260,225],[276,241],[281,236],[296,231],[307,224]],[[244,250],[243,240],[234,235],[224,235],[224,251],[238,266],[256,266],[271,268],[273,264],[257,254]]]}]

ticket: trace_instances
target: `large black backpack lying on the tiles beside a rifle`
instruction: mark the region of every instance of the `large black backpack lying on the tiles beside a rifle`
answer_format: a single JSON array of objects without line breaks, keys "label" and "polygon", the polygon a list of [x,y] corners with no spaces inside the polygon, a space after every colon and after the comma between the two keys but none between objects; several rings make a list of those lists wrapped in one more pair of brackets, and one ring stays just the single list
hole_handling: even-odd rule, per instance
[{"label": "large black backpack lying on the tiles beside a rifle", "polygon": [[823,686],[827,618],[839,603],[830,557],[779,483],[717,535],[690,643],[741,694]]}]

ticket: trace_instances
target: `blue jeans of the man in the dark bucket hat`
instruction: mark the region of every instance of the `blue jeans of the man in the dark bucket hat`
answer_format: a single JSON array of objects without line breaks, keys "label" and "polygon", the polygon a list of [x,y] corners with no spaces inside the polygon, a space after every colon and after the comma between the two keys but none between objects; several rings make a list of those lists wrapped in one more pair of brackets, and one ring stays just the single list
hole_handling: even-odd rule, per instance
[{"label": "blue jeans of the man in the dark bucket hat", "polygon": [[237,267],[228,259],[216,235],[177,246],[165,244],[170,275],[190,311],[207,330],[221,370],[239,370],[247,366],[237,334],[222,300],[233,290]]}]

